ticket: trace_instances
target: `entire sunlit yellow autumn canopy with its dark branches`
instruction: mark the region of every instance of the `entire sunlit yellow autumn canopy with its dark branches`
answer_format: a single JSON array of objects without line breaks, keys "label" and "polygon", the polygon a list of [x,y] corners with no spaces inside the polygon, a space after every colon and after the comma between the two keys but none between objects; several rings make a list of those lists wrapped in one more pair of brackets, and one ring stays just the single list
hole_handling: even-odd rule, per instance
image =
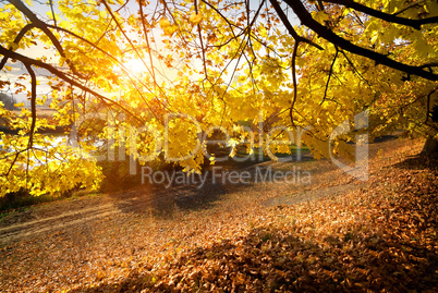
[{"label": "entire sunlit yellow autumn canopy with its dark branches", "polygon": [[[0,133],[0,195],[97,186],[96,145],[40,132],[96,117],[119,156],[188,172],[215,161],[200,144],[214,130],[234,149],[246,143],[248,156],[254,145],[288,152],[276,141],[300,141],[318,158],[351,154],[357,131],[437,134],[433,0],[1,3],[2,76],[19,64],[25,73],[0,87],[26,93],[31,109],[0,108],[20,130]],[[38,95],[41,86],[49,89]],[[47,99],[52,119],[37,113]],[[354,119],[364,111],[365,124]],[[344,121],[356,131],[331,139]]]}]

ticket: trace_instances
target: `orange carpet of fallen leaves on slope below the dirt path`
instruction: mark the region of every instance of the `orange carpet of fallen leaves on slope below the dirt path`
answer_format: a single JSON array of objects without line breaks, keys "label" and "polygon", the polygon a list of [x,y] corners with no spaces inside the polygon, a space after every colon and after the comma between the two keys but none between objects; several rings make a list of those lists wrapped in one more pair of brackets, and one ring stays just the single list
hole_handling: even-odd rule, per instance
[{"label": "orange carpet of fallen leaves on slope below the dirt path", "polygon": [[[436,292],[438,159],[412,157],[418,147],[379,156],[367,186],[344,195],[272,208],[228,198],[147,224],[109,219],[107,230],[52,235],[39,249],[3,247],[2,286],[34,278],[38,291]],[[22,265],[7,271],[11,261]]]}]

